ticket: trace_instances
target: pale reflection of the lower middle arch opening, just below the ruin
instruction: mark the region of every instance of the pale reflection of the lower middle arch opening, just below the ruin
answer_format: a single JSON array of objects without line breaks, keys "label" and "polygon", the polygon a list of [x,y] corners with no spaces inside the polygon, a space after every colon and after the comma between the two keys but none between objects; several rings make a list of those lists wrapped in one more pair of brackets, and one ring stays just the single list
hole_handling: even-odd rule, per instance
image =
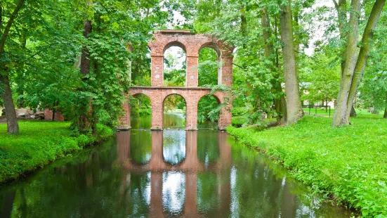
[{"label": "pale reflection of the lower middle arch opening, just below the ruin", "polygon": [[185,159],[185,131],[165,129],[163,132],[163,156],[165,162],[177,165]]}]

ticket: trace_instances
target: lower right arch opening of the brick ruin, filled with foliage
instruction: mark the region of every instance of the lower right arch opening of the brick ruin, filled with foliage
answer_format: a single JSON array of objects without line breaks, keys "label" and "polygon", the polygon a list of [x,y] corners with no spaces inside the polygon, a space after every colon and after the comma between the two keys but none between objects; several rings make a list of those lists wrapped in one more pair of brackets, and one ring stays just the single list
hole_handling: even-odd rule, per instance
[{"label": "lower right arch opening of the brick ruin, filled with foliage", "polygon": [[221,114],[220,101],[216,96],[205,95],[197,103],[197,124],[199,128],[216,129]]}]

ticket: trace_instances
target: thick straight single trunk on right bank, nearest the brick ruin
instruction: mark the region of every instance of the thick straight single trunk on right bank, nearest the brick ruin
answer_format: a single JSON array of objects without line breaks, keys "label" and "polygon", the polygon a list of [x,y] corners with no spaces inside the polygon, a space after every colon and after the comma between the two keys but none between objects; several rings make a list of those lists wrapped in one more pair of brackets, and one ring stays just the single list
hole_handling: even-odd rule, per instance
[{"label": "thick straight single trunk on right bank, nearest the brick ruin", "polygon": [[293,29],[291,26],[291,1],[286,6],[281,6],[280,15],[282,53],[284,57],[284,80],[287,99],[287,124],[296,123],[303,116],[299,78],[296,74],[296,60],[294,57]]}]

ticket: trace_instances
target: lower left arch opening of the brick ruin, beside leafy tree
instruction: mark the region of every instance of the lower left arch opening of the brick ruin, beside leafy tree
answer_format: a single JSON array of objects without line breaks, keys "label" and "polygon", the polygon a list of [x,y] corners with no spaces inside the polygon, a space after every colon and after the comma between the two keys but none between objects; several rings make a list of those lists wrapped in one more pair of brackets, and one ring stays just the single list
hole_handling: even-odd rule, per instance
[{"label": "lower left arch opening of the brick ruin, beside leafy tree", "polygon": [[131,129],[152,127],[152,102],[145,94],[131,96]]}]

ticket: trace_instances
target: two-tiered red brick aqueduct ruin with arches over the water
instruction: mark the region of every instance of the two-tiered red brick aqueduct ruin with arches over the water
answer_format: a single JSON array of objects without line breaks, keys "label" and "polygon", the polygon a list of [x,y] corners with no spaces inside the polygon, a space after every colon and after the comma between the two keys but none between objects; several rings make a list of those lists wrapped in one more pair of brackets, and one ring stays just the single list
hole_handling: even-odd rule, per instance
[{"label": "two-tiered red brick aqueduct ruin with arches over the water", "polygon": [[[131,96],[144,94],[148,96],[152,105],[151,129],[163,129],[164,100],[166,97],[177,94],[184,98],[186,104],[186,130],[197,130],[197,105],[200,98],[210,94],[211,88],[198,86],[199,51],[210,47],[218,53],[221,67],[218,69],[218,84],[232,85],[232,47],[222,43],[215,37],[206,34],[192,34],[190,30],[160,30],[153,34],[154,40],[148,44],[151,56],[151,84],[152,86],[133,86],[129,89]],[[185,73],[185,86],[164,86],[164,51],[171,46],[180,46],[186,54],[187,70]],[[223,91],[212,94],[218,103],[229,104],[221,109],[218,120],[218,129],[225,129],[231,124],[232,98]],[[130,129],[130,103],[124,103],[125,115],[120,118],[119,129]]]}]

